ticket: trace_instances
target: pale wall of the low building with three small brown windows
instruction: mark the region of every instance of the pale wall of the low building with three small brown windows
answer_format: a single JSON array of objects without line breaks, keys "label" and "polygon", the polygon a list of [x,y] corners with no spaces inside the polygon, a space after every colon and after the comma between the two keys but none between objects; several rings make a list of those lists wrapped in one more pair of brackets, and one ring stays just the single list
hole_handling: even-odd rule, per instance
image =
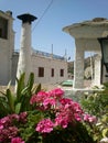
[{"label": "pale wall of the low building with three small brown windows", "polygon": [[[39,77],[39,67],[44,68],[44,76]],[[52,68],[54,76],[52,77]],[[64,70],[61,76],[61,69]],[[35,82],[42,84],[57,84],[67,79],[67,62],[62,59],[54,59],[52,57],[32,56],[32,70],[35,75]]]}]

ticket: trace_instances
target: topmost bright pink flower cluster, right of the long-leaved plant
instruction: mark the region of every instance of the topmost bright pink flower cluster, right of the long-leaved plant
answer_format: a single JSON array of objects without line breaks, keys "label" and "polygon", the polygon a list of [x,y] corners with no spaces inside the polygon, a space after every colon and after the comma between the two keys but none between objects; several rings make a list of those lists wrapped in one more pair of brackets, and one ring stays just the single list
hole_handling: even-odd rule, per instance
[{"label": "topmost bright pink flower cluster, right of the long-leaved plant", "polygon": [[40,91],[37,95],[33,95],[30,103],[36,103],[36,108],[43,110],[55,109],[58,106],[58,100],[63,98],[64,91],[61,88],[51,90],[48,92]]}]

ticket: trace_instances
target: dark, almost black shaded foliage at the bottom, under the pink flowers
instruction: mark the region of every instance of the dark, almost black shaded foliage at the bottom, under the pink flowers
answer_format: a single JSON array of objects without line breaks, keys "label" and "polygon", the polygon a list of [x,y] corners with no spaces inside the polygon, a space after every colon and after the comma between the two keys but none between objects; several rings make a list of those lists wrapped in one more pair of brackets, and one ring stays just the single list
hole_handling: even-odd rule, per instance
[{"label": "dark, almost black shaded foliage at the bottom, under the pink flowers", "polygon": [[43,138],[43,143],[96,143],[86,127],[79,122],[74,128],[56,129]]}]

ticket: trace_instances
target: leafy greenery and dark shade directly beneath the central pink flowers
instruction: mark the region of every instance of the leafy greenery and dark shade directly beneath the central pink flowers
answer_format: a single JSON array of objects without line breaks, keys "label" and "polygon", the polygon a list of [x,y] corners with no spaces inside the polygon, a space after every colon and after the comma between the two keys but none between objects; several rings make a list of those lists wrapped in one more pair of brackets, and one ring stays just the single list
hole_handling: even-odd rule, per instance
[{"label": "leafy greenery and dark shade directly beneath the central pink flowers", "polygon": [[25,143],[97,143],[82,122],[73,124],[73,128],[69,124],[66,129],[57,127],[51,133],[42,135],[35,131],[35,127],[44,116],[46,114],[37,110],[28,112],[28,122],[20,128],[20,135]]}]

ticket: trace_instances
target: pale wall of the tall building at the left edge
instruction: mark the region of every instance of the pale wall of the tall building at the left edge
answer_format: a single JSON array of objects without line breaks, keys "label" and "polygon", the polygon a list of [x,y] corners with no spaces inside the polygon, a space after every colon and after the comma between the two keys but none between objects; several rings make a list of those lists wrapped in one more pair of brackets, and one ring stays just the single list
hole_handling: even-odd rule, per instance
[{"label": "pale wall of the tall building at the left edge", "polygon": [[10,12],[0,12],[0,20],[7,22],[4,22],[7,31],[3,22],[0,24],[0,85],[8,85],[11,80],[12,54],[14,48],[13,19]]}]

